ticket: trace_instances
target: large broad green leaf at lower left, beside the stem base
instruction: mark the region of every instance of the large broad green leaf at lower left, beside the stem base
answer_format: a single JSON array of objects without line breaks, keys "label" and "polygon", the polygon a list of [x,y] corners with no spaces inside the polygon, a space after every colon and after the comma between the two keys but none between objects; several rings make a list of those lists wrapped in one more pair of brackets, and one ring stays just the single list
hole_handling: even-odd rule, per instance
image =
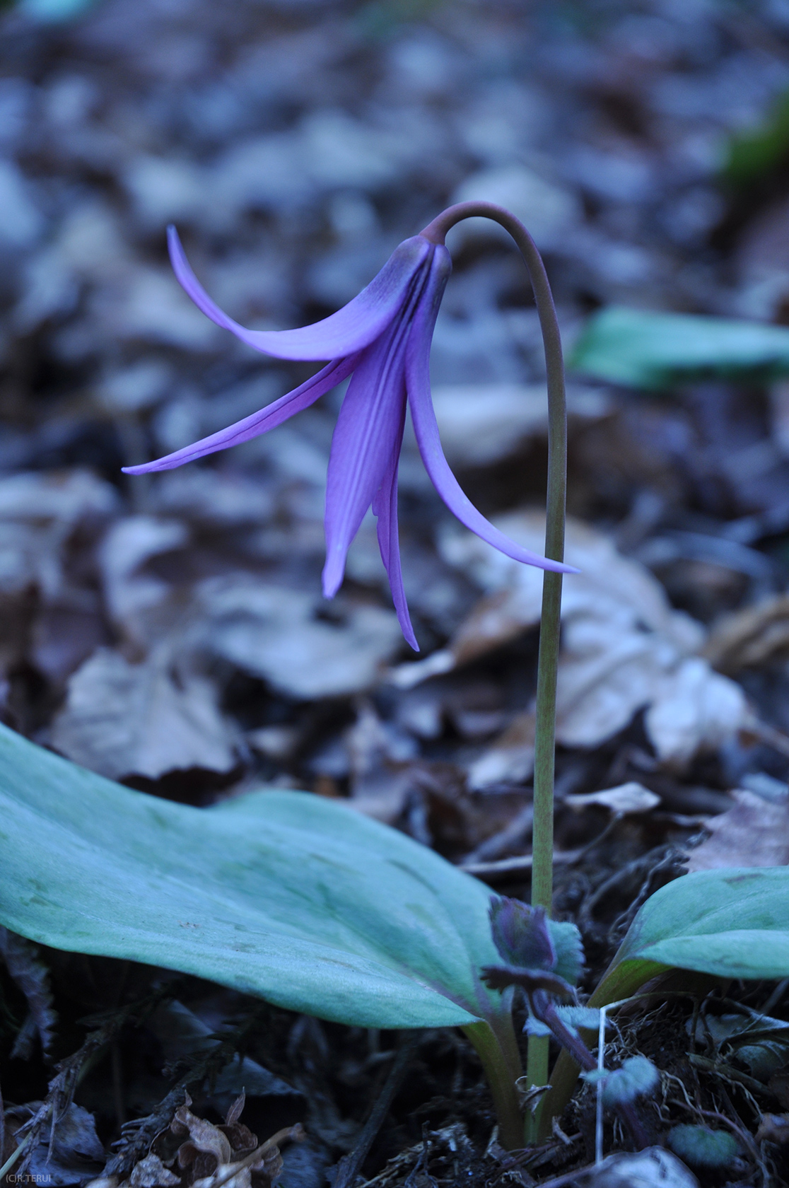
[{"label": "large broad green leaf at lower left, beside the stem base", "polygon": [[194,809],[0,726],[0,922],[43,944],[197,974],[375,1028],[503,1026],[490,892],[308,792]]}]

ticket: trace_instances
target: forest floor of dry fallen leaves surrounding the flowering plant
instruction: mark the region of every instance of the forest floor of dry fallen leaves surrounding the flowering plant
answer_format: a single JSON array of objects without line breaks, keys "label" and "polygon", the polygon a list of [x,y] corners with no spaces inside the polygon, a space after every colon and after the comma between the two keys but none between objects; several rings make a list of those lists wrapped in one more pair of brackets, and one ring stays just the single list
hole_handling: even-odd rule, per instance
[{"label": "forest floor of dry fallen leaves surrounding the flowering plant", "polygon": [[[195,310],[164,228],[178,226],[244,324],[326,316],[450,201],[486,196],[532,230],[568,347],[607,305],[785,326],[787,94],[782,0],[4,13],[2,720],[196,807],[260,784],[341,798],[528,899],[539,574],[453,520],[406,435],[419,656],[371,517],[324,602],[336,392],[206,463],[122,475],[310,373]],[[449,247],[431,356],[447,456],[480,510],[542,552],[528,278],[496,230],[459,228]],[[589,990],[658,887],[789,862],[789,381],[650,392],[570,371],[568,407],[567,556],[582,574],[563,609],[555,914],[581,930]],[[14,953],[0,999],[6,1155],[67,1061],[69,1126],[26,1169],[53,1186],[95,1178],[112,1144],[119,1177],[152,1188],[138,1164],[157,1133],[154,1154],[175,1156],[184,1093],[190,1117],[220,1124],[241,1088],[260,1142],[305,1127],[283,1148],[283,1188],[327,1175],[336,1188],[589,1182],[573,1173],[594,1159],[593,1091],[550,1142],[507,1156],[460,1032],[379,1034],[132,962]],[[789,1041],[739,1053],[719,1022],[745,1009],[789,1020],[787,990],[699,985],[617,1017],[612,1054],[662,1074],[643,1105],[655,1142],[711,1120],[737,1139],[727,1167],[694,1168],[702,1186],[789,1182]],[[368,1154],[337,1171],[389,1099]],[[238,1120],[231,1131],[248,1150]],[[606,1123],[606,1152],[626,1145]],[[192,1162],[165,1182],[209,1171]]]}]

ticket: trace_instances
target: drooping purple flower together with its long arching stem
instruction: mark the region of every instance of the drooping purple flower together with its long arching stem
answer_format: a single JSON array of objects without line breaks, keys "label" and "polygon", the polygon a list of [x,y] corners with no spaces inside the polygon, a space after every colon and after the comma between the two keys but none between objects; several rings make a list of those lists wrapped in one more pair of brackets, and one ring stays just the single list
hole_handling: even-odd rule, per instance
[{"label": "drooping purple flower together with its long arching stem", "polygon": [[[455,479],[441,448],[430,396],[430,342],[452,258],[444,236],[461,219],[481,215],[500,223],[525,260],[535,292],[548,372],[548,506],[545,556],[506,537],[474,507]],[[258,412],[164,457],[125,467],[128,474],[170,470],[216,450],[250,441],[309,407],[341,380],[351,378],[337,416],[327,474],[323,593],[333,598],[343,577],[348,546],[372,507],[378,543],[405,639],[418,650],[400,571],[397,527],[397,469],[406,406],[434,487],[472,532],[523,564],[547,570],[543,584],[537,675],[532,903],[550,911],[553,889],[554,734],[567,469],[567,416],[562,347],[548,277],[528,230],[509,210],[488,202],[449,207],[419,235],[400,244],[380,272],[347,305],[311,326],[290,330],[250,330],[216,305],[191,271],[175,227],[169,228],[176,277],[198,309],[255,350],[274,359],[326,360],[309,380]],[[482,1011],[485,1015],[485,1011]],[[487,1030],[486,1030],[487,1029]],[[488,1034],[490,1032],[490,1034]],[[522,1133],[515,1081],[519,1055],[507,1012],[471,1029],[494,1091],[503,1140]],[[529,1079],[548,1080],[544,1037],[529,1038]],[[530,1120],[528,1138],[537,1119]]]}]

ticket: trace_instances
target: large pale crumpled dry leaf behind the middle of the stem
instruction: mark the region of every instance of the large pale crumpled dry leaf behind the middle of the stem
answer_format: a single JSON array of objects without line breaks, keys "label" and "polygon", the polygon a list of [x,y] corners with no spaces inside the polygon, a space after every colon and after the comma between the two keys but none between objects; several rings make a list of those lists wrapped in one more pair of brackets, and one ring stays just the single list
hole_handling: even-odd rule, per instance
[{"label": "large pale crumpled dry leaf behind the middle of the stem", "polygon": [[[513,513],[497,524],[525,548],[542,550],[543,517]],[[539,570],[519,565],[471,533],[455,530],[442,542],[442,550],[446,560],[488,590],[452,640],[454,665],[501,646],[539,621]],[[696,752],[732,738],[747,719],[745,696],[739,685],[695,655],[703,643],[703,627],[674,611],[659,582],[588,525],[568,522],[567,558],[581,573],[566,577],[562,589],[557,741],[597,746],[640,709],[646,709],[646,733],[667,764],[681,766]],[[406,671],[405,665],[398,670],[402,684],[409,683]],[[423,675],[430,675],[427,668]],[[520,735],[526,727],[528,716],[474,764],[474,786],[529,776],[529,745],[519,739],[511,744],[512,732]]]}]

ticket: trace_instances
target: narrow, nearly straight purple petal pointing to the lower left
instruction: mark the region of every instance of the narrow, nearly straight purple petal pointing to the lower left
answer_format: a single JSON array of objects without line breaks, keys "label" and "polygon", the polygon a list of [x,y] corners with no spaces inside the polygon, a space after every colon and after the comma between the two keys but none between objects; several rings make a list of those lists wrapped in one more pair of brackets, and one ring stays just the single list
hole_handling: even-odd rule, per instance
[{"label": "narrow, nearly straight purple petal pointing to the lower left", "polygon": [[177,449],[173,454],[165,454],[164,457],[159,457],[154,462],[145,462],[143,466],[125,466],[124,472],[126,474],[150,474],[152,470],[172,470],[177,466],[183,466],[184,462],[194,462],[196,457],[204,457],[206,454],[215,454],[220,449],[240,446],[241,442],[248,442],[252,437],[259,437],[260,434],[276,429],[293,413],[301,412],[302,409],[309,409],[310,404],[315,404],[326,392],[330,392],[333,387],[342,383],[355,367],[358,358],[358,355],[348,355],[347,359],[327,364],[310,379],[295,387],[292,392],[280,396],[278,400],[267,404],[259,412],[253,412],[250,417],[244,417],[242,421],[236,421],[234,425],[220,429],[219,432],[212,434],[209,437],[202,437],[191,446],[184,446],[183,449]]}]

